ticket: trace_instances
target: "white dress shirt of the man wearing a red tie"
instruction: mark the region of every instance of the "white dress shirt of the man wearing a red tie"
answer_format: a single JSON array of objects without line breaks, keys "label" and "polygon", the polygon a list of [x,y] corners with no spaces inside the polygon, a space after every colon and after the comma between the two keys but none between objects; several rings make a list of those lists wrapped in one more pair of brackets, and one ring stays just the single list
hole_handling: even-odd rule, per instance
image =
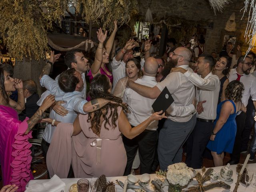
[{"label": "white dress shirt of the man wearing a red tie", "polygon": [[[228,79],[229,82],[237,79],[236,68],[230,70]],[[243,74],[243,76],[240,77],[240,82],[244,84],[242,103],[244,106],[247,106],[250,96],[252,97],[253,101],[256,101],[256,78],[252,74]]]}]

